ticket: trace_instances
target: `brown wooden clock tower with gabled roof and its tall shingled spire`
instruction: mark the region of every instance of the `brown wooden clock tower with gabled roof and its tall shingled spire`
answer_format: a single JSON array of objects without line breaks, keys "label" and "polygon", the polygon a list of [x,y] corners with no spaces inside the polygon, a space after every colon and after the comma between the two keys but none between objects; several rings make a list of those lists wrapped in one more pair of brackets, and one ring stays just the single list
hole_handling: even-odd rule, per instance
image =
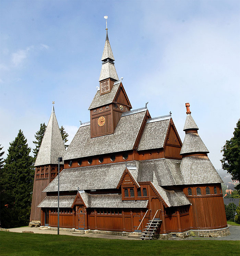
[{"label": "brown wooden clock tower with gabled roof and its tall shingled spire", "polygon": [[113,134],[123,112],[132,108],[128,96],[114,66],[114,56],[108,39],[101,58],[102,67],[98,88],[94,99],[89,106],[91,122],[91,138]]}]

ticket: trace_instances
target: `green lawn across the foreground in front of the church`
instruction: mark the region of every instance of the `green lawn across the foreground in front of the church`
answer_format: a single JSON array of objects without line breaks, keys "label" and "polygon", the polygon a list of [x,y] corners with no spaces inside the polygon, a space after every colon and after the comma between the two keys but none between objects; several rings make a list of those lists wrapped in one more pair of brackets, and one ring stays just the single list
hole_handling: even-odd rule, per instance
[{"label": "green lawn across the foreground in front of the church", "polygon": [[0,232],[0,255],[239,255],[239,241],[139,241]]}]

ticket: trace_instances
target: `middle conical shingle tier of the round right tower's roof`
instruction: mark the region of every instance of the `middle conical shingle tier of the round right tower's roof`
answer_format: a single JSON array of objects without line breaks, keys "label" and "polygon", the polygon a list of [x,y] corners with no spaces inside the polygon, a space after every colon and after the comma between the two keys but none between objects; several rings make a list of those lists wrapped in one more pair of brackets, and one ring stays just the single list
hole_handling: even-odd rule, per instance
[{"label": "middle conical shingle tier of the round right tower's roof", "polygon": [[185,135],[180,154],[193,152],[209,153],[208,149],[197,133],[189,133]]}]

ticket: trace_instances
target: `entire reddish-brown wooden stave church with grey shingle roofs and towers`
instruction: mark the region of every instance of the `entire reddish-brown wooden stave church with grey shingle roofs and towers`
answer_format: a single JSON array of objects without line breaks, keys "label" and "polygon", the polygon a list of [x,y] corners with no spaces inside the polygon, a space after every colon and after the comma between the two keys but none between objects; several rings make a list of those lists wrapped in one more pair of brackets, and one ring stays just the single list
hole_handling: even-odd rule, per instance
[{"label": "entire reddish-brown wooden stave church with grey shingle roofs and towers", "polygon": [[[106,30],[107,31],[107,30]],[[208,159],[190,105],[182,143],[171,115],[132,110],[106,34],[90,121],[65,151],[54,108],[35,162],[31,220],[84,232],[141,233],[142,239],[224,236],[221,178]]]}]

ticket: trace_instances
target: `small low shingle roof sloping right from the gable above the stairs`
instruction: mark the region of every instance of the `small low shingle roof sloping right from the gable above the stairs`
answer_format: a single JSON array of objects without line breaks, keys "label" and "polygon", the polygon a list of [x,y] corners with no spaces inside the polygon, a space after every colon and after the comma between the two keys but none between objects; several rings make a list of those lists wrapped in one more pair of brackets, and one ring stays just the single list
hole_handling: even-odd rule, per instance
[{"label": "small low shingle roof sloping right from the gable above the stairs", "polygon": [[157,184],[153,185],[169,207],[191,204],[181,190],[166,190]]}]

